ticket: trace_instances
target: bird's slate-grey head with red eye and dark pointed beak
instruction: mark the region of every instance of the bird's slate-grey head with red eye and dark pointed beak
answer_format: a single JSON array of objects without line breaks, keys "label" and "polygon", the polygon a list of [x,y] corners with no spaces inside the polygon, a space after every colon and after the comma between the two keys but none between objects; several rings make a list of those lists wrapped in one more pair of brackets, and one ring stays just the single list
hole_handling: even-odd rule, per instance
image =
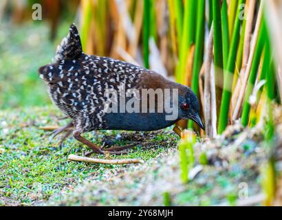
[{"label": "bird's slate-grey head with red eye and dark pointed beak", "polygon": [[204,123],[199,116],[199,101],[195,93],[186,87],[178,98],[178,111],[180,119],[190,119],[196,122],[201,129],[205,129]]}]

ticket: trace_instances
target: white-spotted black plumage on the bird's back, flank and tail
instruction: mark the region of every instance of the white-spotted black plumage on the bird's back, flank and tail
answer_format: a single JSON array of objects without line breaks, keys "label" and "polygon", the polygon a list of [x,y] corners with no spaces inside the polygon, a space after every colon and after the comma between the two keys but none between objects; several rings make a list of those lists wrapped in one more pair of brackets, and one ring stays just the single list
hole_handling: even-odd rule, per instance
[{"label": "white-spotted black plumage on the bird's back, flank and tail", "polygon": [[70,118],[80,120],[76,126],[83,131],[107,127],[106,89],[118,90],[121,82],[128,83],[127,89],[138,87],[142,72],[147,71],[113,58],[84,54],[79,34],[72,28],[58,46],[55,61],[41,67],[40,77],[47,83],[53,102]]}]

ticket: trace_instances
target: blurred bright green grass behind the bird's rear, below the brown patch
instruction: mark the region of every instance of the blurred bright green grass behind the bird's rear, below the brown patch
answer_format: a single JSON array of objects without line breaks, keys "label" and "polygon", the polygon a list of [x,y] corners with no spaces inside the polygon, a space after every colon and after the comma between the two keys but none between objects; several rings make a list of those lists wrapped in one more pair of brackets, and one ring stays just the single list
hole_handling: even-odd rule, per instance
[{"label": "blurred bright green grass behind the bird's rear, below the brown patch", "polygon": [[0,106],[23,107],[50,102],[37,69],[50,63],[55,45],[48,39],[46,23],[3,23],[0,31]]}]

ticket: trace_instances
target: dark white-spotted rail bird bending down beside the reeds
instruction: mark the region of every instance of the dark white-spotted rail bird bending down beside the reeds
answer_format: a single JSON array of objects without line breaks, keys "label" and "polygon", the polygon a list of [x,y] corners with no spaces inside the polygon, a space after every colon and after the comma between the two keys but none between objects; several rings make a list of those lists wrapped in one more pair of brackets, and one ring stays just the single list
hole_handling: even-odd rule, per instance
[{"label": "dark white-spotted rail bird bending down beside the reeds", "polygon": [[[96,153],[105,150],[86,140],[82,133],[100,129],[155,131],[181,119],[191,119],[204,129],[197,96],[190,88],[131,63],[84,54],[74,24],[58,46],[54,60],[39,68],[40,78],[54,104],[72,119],[76,140]],[[118,149],[123,148],[108,152],[116,153]]]}]

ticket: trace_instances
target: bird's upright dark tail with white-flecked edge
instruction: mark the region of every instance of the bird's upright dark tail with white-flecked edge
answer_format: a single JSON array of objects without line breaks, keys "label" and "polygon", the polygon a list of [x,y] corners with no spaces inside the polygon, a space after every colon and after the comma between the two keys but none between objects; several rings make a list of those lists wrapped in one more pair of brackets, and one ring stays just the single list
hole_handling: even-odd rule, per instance
[{"label": "bird's upright dark tail with white-flecked edge", "polygon": [[55,60],[78,58],[83,53],[80,36],[74,23],[69,27],[69,34],[62,40],[56,50]]}]

